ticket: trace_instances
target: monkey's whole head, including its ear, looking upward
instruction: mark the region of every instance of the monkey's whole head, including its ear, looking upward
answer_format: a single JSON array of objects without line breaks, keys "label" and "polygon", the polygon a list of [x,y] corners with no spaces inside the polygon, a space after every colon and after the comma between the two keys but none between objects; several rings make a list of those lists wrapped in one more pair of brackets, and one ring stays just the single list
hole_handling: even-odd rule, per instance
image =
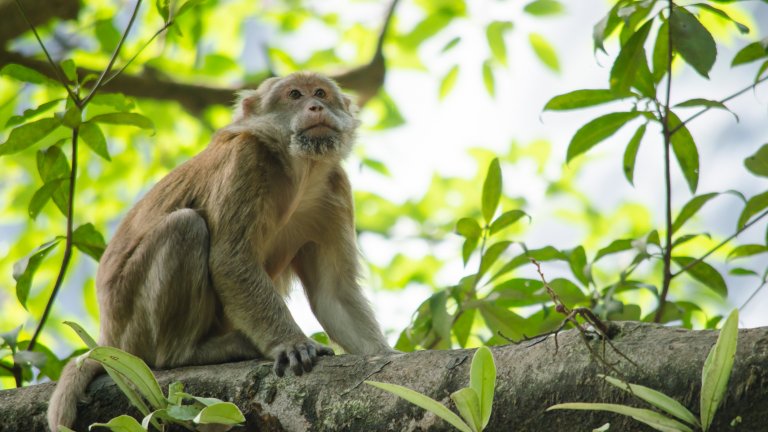
[{"label": "monkey's whole head, including its ear, looking upward", "polygon": [[235,122],[269,124],[289,151],[312,159],[345,157],[360,122],[356,108],[331,79],[311,72],[269,78],[240,93]]}]

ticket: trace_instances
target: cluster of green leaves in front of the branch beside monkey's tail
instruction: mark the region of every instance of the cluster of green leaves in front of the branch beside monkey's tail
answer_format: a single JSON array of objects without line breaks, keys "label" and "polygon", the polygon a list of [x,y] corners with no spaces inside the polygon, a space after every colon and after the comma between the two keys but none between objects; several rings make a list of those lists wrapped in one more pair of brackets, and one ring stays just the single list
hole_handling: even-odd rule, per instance
[{"label": "cluster of green leaves in front of the branch beside monkey's tail", "polygon": [[[224,428],[217,430],[229,430],[245,422],[242,412],[233,403],[185,393],[184,384],[180,381],[168,386],[166,397],[152,371],[140,358],[117,348],[98,346],[78,324],[66,324],[77,332],[89,348],[77,361],[91,359],[104,366],[131,404],[144,416],[141,423],[133,417],[121,415],[107,423],[94,423],[90,428],[101,426],[115,432],[142,432],[150,430],[150,425],[156,430],[165,430],[169,425],[179,425],[188,430],[197,430],[195,427],[199,425],[220,425]],[[60,430],[66,431],[68,428]]]}]

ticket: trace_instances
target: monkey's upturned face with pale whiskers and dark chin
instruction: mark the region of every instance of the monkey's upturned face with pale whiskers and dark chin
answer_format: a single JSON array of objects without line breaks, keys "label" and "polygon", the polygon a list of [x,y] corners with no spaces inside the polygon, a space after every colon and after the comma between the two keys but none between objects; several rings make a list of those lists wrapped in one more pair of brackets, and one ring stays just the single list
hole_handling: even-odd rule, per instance
[{"label": "monkey's upturned face with pale whiskers and dark chin", "polygon": [[336,83],[311,73],[296,73],[266,82],[265,111],[289,129],[289,150],[312,159],[345,157],[359,122],[351,101]]}]

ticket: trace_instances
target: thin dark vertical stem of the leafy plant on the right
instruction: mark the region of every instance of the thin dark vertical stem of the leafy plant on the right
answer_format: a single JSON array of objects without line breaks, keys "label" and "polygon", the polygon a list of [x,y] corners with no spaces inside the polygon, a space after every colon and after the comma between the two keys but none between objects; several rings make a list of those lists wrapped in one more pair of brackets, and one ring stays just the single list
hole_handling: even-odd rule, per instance
[{"label": "thin dark vertical stem of the leafy plant on the right", "polygon": [[[673,0],[667,2],[669,8],[669,19],[672,19]],[[662,280],[661,294],[659,295],[659,305],[656,309],[654,322],[660,322],[664,311],[664,303],[669,294],[669,285],[672,282],[672,174],[670,168],[669,148],[672,144],[672,133],[669,129],[669,104],[672,94],[672,32],[667,37],[667,88],[666,101],[664,102],[664,115],[661,118],[662,132],[664,134],[664,188],[665,188],[665,211],[666,211],[666,239],[664,247],[664,277]]]}]

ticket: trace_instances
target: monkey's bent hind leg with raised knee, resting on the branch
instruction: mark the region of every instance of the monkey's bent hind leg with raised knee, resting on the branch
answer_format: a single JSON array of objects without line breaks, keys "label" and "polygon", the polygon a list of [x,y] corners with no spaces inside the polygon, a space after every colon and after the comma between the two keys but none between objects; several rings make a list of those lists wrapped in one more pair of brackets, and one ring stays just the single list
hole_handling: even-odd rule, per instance
[{"label": "monkey's bent hind leg with raised knee, resting on the branch", "polygon": [[143,275],[140,298],[127,325],[111,329],[118,346],[159,368],[258,356],[241,334],[218,327],[209,243],[205,220],[192,209],[170,213],[142,239],[124,270],[126,278]]}]

